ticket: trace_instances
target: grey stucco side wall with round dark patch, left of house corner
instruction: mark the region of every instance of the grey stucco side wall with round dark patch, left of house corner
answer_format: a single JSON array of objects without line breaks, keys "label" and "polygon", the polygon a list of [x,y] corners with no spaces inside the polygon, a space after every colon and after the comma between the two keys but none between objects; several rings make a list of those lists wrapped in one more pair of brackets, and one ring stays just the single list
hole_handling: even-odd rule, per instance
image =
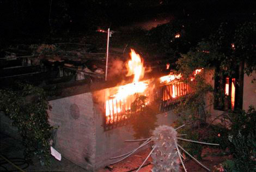
[{"label": "grey stucco side wall with round dark patch, left of house corner", "polygon": [[95,118],[91,93],[49,102],[52,126],[57,130],[56,149],[71,162],[91,170],[95,164]]}]

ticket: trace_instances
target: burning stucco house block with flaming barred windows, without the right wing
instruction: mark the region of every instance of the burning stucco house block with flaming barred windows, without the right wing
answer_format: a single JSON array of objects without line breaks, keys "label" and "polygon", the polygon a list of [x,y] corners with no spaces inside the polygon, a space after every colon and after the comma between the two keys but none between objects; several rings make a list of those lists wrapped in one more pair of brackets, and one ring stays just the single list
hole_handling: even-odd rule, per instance
[{"label": "burning stucco house block with flaming barred windows, without the right wing", "polygon": [[137,96],[147,97],[145,106],[157,107],[157,125],[170,125],[175,119],[169,111],[170,101],[191,91],[187,84],[174,81],[180,76],[141,80],[145,71],[143,59],[133,50],[130,55],[127,76],[132,75],[131,82],[127,79],[118,86],[106,82],[64,88],[59,97],[49,101],[50,124],[59,126],[56,149],[88,170],[108,165],[113,162],[109,158],[138,146],[124,143],[134,139],[130,119],[138,115],[132,109]]}]

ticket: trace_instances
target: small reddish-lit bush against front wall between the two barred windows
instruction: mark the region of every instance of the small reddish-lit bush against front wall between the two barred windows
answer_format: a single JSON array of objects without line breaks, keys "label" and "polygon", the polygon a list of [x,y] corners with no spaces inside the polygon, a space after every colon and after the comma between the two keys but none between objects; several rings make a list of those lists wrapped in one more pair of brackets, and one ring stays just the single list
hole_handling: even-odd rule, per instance
[{"label": "small reddish-lit bush against front wall between the two barred windows", "polygon": [[131,104],[132,118],[131,124],[135,131],[134,137],[148,138],[156,127],[157,110],[152,106],[146,106],[145,100],[147,97],[136,95],[136,100]]}]

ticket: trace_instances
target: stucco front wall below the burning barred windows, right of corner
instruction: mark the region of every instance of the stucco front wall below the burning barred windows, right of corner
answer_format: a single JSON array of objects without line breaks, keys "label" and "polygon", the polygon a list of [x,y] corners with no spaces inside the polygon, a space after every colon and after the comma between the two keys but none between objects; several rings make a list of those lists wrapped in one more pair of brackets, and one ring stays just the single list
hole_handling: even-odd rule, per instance
[{"label": "stucco front wall below the burning barred windows, right of corner", "polygon": [[[96,108],[97,109],[97,108]],[[124,142],[125,140],[135,139],[133,134],[135,132],[131,125],[126,125],[113,130],[104,131],[102,124],[103,118],[101,112],[96,111],[95,122],[96,122],[96,167],[103,167],[118,159],[109,159],[123,155],[135,148],[140,144],[135,142]],[[101,115],[100,115],[101,114]],[[175,120],[176,116],[171,112],[157,114],[156,125],[170,125]],[[147,146],[143,147],[144,149]],[[141,150],[143,150],[143,148]]]}]

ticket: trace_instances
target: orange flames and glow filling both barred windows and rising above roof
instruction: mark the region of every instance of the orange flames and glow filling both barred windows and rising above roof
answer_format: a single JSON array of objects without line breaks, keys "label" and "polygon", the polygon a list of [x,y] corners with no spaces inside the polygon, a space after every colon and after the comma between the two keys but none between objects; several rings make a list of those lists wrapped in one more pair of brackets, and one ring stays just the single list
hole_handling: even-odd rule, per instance
[{"label": "orange flames and glow filling both barred windows and rising above roof", "polygon": [[[154,79],[139,81],[139,79],[143,78],[145,72],[143,59],[132,49],[130,57],[131,59],[126,65],[128,71],[126,76],[133,76],[132,83],[108,89],[105,97],[106,125],[128,119],[130,114],[133,113],[131,111],[132,103],[138,96],[146,96],[148,98],[144,102],[145,105],[150,105],[160,96],[164,107],[168,105],[170,100],[187,95],[192,91],[187,83],[179,80],[182,77],[181,73],[174,75],[171,72],[167,76],[160,77],[158,80],[160,87],[156,89],[154,82],[152,82]],[[166,67],[168,68],[169,64]],[[202,69],[194,71],[192,78],[201,71]]]}]

